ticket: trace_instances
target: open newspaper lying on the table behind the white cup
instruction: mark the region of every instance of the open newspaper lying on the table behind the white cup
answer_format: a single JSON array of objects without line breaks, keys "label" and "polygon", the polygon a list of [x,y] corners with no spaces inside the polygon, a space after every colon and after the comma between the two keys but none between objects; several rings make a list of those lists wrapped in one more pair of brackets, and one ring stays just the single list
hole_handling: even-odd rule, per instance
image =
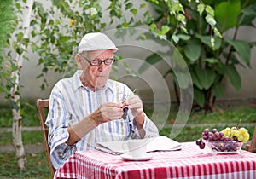
[{"label": "open newspaper lying on the table behind the white cup", "polygon": [[[166,136],[157,136],[154,138],[146,138],[146,139],[134,139],[145,141],[147,143],[147,152],[153,151],[166,151],[166,150],[180,150],[181,144],[177,141],[173,141],[172,139]],[[127,141],[106,141],[106,142],[97,142],[96,149],[101,150],[106,153],[112,154],[122,154],[125,153],[125,149],[123,148],[124,143]]]}]

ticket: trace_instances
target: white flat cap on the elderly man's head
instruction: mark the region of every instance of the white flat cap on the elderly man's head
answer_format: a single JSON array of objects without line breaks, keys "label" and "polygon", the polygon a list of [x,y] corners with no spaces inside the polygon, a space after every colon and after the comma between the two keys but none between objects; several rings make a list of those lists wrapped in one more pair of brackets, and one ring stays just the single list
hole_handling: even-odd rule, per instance
[{"label": "white flat cap on the elderly man's head", "polygon": [[115,44],[102,32],[91,32],[84,35],[79,43],[79,53],[83,51],[113,49],[117,51]]}]

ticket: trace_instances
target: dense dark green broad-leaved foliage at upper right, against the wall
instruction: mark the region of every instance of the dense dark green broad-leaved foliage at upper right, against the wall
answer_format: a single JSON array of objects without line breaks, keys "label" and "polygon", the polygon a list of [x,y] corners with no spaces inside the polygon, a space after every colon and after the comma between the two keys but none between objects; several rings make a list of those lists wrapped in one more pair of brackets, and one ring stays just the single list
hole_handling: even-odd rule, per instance
[{"label": "dense dark green broad-leaved foliage at upper right, against the wall", "polygon": [[[253,26],[255,1],[148,2],[157,15],[152,15],[154,20],[146,23],[150,31],[159,37],[164,36],[183,55],[193,80],[195,104],[206,111],[211,109],[214,99],[224,95],[224,77],[230,79],[236,90],[241,89],[241,77],[236,66],[250,67],[251,49],[255,42],[237,40],[236,36],[241,26]],[[230,29],[234,30],[232,38],[223,38]],[[152,65],[158,61],[161,61],[158,55],[150,55],[146,59]],[[141,66],[140,72],[146,68]],[[171,73],[175,79],[173,70],[166,73]],[[177,83],[176,80],[174,82]]]}]

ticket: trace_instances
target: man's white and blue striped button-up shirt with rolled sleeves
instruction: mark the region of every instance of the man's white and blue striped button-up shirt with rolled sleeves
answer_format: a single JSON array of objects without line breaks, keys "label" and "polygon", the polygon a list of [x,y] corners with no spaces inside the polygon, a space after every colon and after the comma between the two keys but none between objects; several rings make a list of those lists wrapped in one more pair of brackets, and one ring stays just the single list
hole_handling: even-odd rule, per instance
[{"label": "man's white and blue striped button-up shirt with rolled sleeves", "polygon": [[[50,159],[55,169],[63,165],[73,152],[95,149],[96,142],[140,138],[136,120],[129,110],[125,120],[99,124],[73,146],[66,144],[68,127],[93,113],[102,103],[124,101],[125,96],[133,95],[128,86],[111,79],[102,89],[90,90],[80,81],[81,72],[75,72],[71,78],[61,79],[49,96],[49,113],[45,124],[49,126]],[[146,115],[143,128],[146,131],[145,138],[159,136],[157,127]]]}]

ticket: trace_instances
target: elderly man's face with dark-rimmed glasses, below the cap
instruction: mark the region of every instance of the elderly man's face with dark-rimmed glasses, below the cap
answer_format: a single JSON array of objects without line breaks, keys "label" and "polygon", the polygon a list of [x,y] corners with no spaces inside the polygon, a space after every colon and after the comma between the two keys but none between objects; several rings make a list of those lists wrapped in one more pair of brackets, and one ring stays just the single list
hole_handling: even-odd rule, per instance
[{"label": "elderly man's face with dark-rimmed glasses, below the cap", "polygon": [[[88,56],[88,58],[90,58],[90,55]],[[104,50],[94,59],[104,61],[108,58],[113,58],[113,50]],[[93,59],[90,58],[90,60]],[[80,78],[83,84],[90,87],[91,90],[101,89],[106,84],[112,65],[105,65],[104,62],[102,62],[99,66],[90,66],[90,63],[84,58],[82,58],[81,65],[83,74]]]}]

